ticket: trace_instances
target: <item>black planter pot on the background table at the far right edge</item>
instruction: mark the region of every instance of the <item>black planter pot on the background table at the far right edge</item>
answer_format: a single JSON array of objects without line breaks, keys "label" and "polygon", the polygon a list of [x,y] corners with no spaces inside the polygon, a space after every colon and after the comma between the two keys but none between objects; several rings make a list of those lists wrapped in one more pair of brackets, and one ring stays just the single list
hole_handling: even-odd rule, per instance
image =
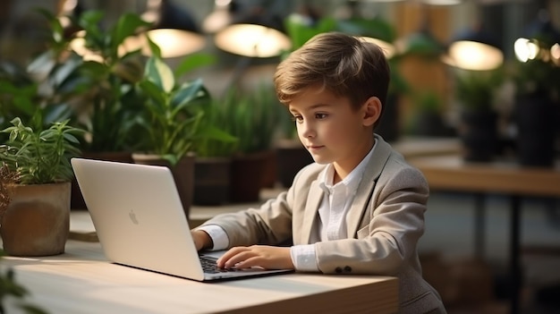
[{"label": "black planter pot on the background table at the far right edge", "polygon": [[558,106],[537,94],[516,98],[516,152],[520,165],[554,165]]}]

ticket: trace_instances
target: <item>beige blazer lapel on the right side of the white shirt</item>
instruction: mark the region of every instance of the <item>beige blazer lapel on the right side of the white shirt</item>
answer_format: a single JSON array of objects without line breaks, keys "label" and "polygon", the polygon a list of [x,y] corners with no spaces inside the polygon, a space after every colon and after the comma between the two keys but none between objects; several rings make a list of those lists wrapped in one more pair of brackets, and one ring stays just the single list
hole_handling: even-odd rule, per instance
[{"label": "beige blazer lapel on the right side of the white shirt", "polygon": [[358,185],[356,196],[352,201],[352,206],[346,216],[347,236],[352,239],[358,232],[362,216],[366,213],[369,199],[378,181],[379,175],[391,155],[391,146],[376,134],[376,147],[373,150],[373,155],[369,158],[368,165],[361,177],[361,182]]}]

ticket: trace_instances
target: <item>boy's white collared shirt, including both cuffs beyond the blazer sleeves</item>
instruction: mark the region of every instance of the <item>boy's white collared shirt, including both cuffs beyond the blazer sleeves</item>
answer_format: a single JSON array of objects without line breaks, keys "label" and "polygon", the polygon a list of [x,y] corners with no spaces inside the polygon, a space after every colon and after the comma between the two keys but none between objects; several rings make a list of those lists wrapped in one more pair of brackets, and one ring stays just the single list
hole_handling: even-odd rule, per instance
[{"label": "boy's white collared shirt, including both cuffs beyond the blazer sleeves", "polygon": [[[363,170],[369,162],[373,149],[369,150],[350,174],[343,181],[333,185],[335,166],[332,164],[318,175],[320,187],[323,189],[323,200],[318,209],[318,225],[316,230],[318,235],[311,236],[312,244],[294,245],[290,248],[290,254],[295,269],[299,271],[318,271],[317,254],[315,252],[315,242],[332,241],[346,238],[345,218],[348,209],[352,205],[358,185],[360,185]],[[199,227],[208,233],[214,246],[212,250],[224,250],[229,246],[227,233],[218,225],[205,225]]]}]

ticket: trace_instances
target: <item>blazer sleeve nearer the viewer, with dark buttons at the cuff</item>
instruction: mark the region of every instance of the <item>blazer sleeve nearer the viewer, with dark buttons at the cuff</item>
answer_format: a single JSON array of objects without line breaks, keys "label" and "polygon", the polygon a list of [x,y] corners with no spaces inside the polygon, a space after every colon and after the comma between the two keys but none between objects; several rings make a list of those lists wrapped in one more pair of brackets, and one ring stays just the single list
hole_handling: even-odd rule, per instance
[{"label": "blazer sleeve nearer the viewer, with dark buttons at the cuff", "polygon": [[428,182],[418,169],[390,158],[374,185],[354,237],[316,243],[323,273],[395,276],[417,264]]}]

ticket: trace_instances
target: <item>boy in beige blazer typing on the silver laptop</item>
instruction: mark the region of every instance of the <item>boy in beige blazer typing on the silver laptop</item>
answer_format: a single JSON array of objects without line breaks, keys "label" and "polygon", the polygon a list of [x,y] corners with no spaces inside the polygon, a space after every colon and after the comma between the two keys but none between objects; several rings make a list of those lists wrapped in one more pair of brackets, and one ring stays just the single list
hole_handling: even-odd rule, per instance
[{"label": "boy in beige blazer typing on the silver laptop", "polygon": [[445,313],[422,279],[416,247],[428,183],[374,134],[389,84],[381,49],[319,34],[278,65],[274,80],[315,163],[260,208],[194,229],[197,249],[230,248],[218,267],[397,276],[400,312]]}]

